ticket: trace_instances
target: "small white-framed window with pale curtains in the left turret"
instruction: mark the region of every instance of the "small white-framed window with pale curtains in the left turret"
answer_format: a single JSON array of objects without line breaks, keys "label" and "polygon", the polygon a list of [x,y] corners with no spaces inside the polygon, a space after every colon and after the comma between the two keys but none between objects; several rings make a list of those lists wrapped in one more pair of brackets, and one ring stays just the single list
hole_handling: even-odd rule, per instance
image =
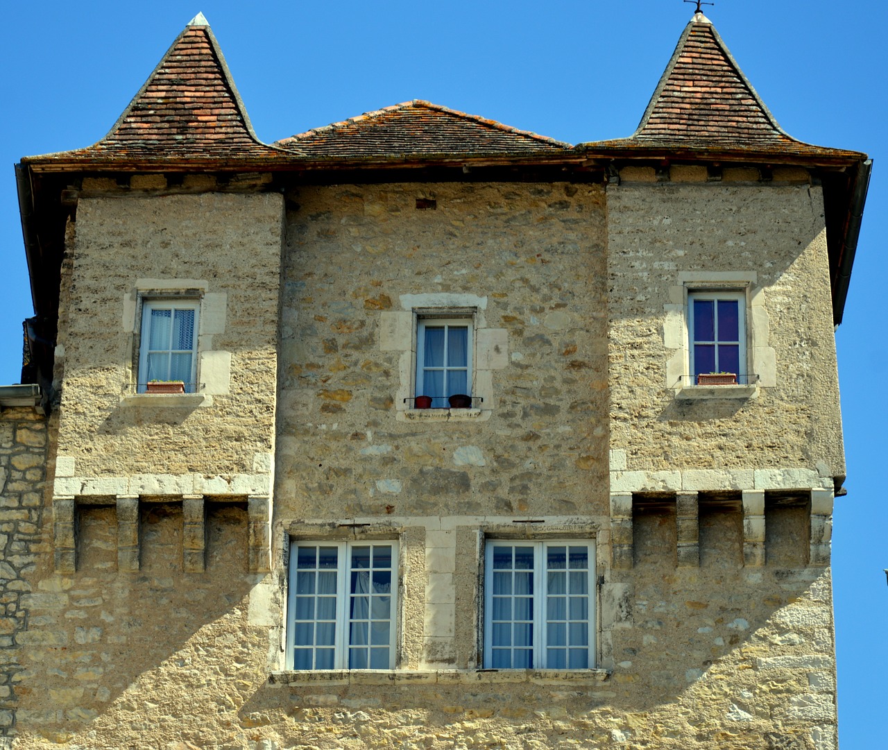
[{"label": "small white-framed window with pale curtains in the left turret", "polygon": [[139,339],[139,388],[150,381],[181,380],[187,393],[197,390],[197,324],[200,302],[157,299],[142,303]]}]

